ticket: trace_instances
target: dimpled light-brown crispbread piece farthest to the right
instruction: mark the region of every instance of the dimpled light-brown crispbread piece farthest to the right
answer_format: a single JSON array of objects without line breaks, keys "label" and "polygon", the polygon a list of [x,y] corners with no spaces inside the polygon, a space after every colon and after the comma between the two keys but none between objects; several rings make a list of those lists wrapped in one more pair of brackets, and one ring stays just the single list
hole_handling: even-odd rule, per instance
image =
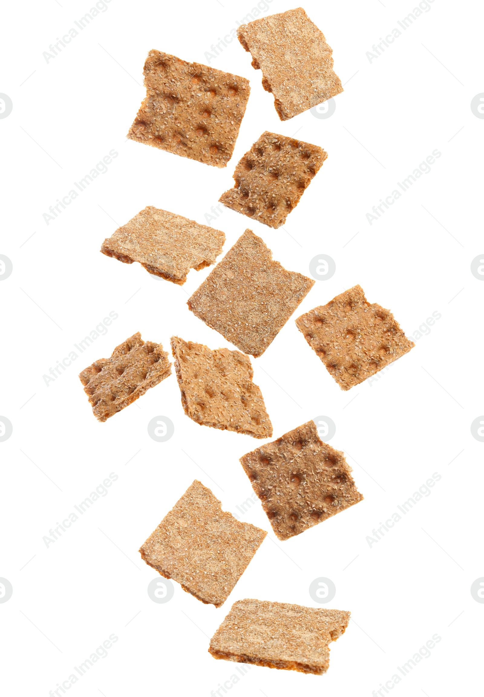
[{"label": "dimpled light-brown crispbread piece farthest to the right", "polygon": [[298,330],[342,390],[359,385],[414,348],[390,310],[354,286],[296,319]]}]

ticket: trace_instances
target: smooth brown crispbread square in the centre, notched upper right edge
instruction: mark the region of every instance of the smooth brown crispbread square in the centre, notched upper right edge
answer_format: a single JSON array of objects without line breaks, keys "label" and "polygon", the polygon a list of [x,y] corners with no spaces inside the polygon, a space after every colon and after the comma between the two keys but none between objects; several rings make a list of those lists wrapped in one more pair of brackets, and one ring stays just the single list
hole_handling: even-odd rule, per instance
[{"label": "smooth brown crispbread square in the centre, notched upper right edge", "polygon": [[188,299],[193,314],[244,353],[264,353],[315,282],[287,271],[245,230]]}]

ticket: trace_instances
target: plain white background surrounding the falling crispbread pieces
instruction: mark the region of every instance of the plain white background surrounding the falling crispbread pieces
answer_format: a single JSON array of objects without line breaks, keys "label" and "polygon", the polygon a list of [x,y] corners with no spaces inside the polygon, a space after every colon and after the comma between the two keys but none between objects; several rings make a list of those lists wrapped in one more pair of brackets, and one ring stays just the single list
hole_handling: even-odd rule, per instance
[{"label": "plain white background surrounding the falling crispbread pieces", "polygon": [[[262,14],[292,7],[273,0]],[[115,634],[107,657],[70,688],[73,697],[208,697],[236,673],[235,664],[207,652],[232,603],[256,597],[316,606],[308,587],[318,576],[335,583],[328,606],[352,613],[328,673],[251,668],[230,688],[235,697],[370,696],[434,634],[441,641],[430,657],[392,694],[478,691],[484,606],[470,586],[484,576],[484,444],[470,424],[484,412],[484,284],[470,264],[483,253],[484,121],[470,102],[484,91],[482,6],[434,0],[371,63],[366,52],[412,3],[308,0],[304,7],[345,84],[335,114],[279,121],[261,72],[232,42],[211,65],[250,79],[251,93],[226,169],[127,141],[126,133],[144,98],[149,49],[206,63],[204,54],[250,12],[249,3],[112,0],[49,63],[43,52],[89,3],[30,1],[3,10],[0,91],[13,100],[0,121],[0,253],[13,263],[0,284],[0,415],[13,423],[0,443],[0,576],[13,585],[0,604],[4,694],[47,697]],[[252,493],[238,459],[261,441],[188,419],[174,375],[106,423],[96,421],[77,374],[134,332],[165,349],[174,334],[231,347],[185,304],[209,268],[191,271],[180,287],[98,250],[147,205],[204,223],[264,130],[297,134],[324,147],[328,160],[284,230],[224,209],[212,223],[227,236],[224,253],[250,227],[286,268],[308,274],[310,260],[328,254],[336,273],[315,284],[262,358],[252,359],[254,381],[275,437],[317,415],[334,420],[331,445],[345,451],[365,500],[287,542],[275,539],[257,501],[243,519],[269,535],[225,605],[204,605],[176,583],[172,600],[155,604],[146,587],[156,574],[140,559],[140,544],[195,478],[236,512]],[[107,173],[47,226],[43,213],[112,149],[119,156]],[[366,213],[434,149],[441,157],[430,174],[370,226]],[[357,283],[409,337],[432,312],[441,319],[378,381],[342,392],[294,319]],[[109,311],[119,317],[107,334],[47,387],[43,375]],[[167,443],[148,436],[156,415],[174,422]],[[47,549],[43,536],[111,472],[119,478],[107,496]],[[441,480],[431,495],[370,548],[372,529],[432,473]]]}]

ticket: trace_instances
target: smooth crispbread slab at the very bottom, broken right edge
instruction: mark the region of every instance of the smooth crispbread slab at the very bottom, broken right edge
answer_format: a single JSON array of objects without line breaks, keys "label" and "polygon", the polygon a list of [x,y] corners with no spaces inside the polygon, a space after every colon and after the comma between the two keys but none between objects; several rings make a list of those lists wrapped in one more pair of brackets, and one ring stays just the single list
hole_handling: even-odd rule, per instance
[{"label": "smooth crispbread slab at the very bottom, broken right edge", "polygon": [[210,640],[213,658],[322,675],[329,644],[348,626],[349,612],[245,598],[232,605]]}]

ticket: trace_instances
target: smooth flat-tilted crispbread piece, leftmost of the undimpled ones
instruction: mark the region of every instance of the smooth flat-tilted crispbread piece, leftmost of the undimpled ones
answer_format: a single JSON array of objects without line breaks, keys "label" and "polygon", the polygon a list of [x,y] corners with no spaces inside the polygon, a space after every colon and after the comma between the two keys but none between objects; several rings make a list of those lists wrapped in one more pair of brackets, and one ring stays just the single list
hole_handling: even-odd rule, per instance
[{"label": "smooth flat-tilted crispbread piece, leftmost of the undimpled ones", "polygon": [[190,268],[211,266],[225,234],[183,215],[146,206],[103,242],[101,252],[124,263],[139,263],[155,276],[181,286]]}]

